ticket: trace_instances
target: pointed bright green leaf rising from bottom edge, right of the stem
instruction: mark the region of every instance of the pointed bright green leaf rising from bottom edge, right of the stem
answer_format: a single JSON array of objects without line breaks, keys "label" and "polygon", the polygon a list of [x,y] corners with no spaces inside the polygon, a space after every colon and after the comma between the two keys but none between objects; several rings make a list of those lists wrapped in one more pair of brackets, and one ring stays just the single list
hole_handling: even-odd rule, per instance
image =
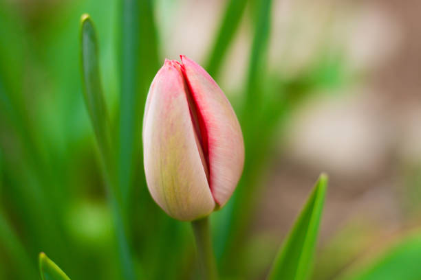
[{"label": "pointed bright green leaf rising from bottom edge, right of the stem", "polygon": [[309,276],[326,187],[327,176],[321,174],[288,239],[279,250],[268,279],[303,280]]}]

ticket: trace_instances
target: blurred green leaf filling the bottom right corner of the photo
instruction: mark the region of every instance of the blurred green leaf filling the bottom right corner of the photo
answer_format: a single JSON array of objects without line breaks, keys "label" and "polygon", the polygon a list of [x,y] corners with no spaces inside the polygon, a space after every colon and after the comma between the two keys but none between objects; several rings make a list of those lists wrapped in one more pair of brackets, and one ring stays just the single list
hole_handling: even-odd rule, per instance
[{"label": "blurred green leaf filling the bottom right corner of the photo", "polygon": [[351,268],[341,280],[421,279],[421,233],[391,246],[368,265]]}]

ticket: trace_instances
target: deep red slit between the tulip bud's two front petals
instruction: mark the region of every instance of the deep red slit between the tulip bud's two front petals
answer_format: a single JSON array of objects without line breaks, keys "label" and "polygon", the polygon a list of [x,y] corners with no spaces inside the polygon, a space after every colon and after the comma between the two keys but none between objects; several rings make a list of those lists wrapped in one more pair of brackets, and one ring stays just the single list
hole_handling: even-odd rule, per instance
[{"label": "deep red slit between the tulip bud's two front petals", "polygon": [[[182,56],[180,56],[180,58],[182,58]],[[195,108],[191,108],[190,113],[192,115],[193,126],[195,127],[195,130],[196,130],[197,136],[199,138],[200,144],[202,145],[202,150],[203,150],[203,153],[204,153],[206,165],[208,165],[207,166],[208,167],[208,176],[207,176],[208,184],[209,184],[210,192],[213,194],[212,183],[210,182],[210,172],[212,172],[212,171],[211,171],[211,167],[210,167],[210,164],[209,164],[208,130],[206,128],[206,123],[204,121],[203,114],[199,110],[197,100],[195,100],[195,93],[193,93],[193,88],[191,87],[190,81],[188,80],[188,77],[186,75],[186,69],[184,68],[184,65],[182,63],[180,63],[180,65],[181,65],[182,73],[184,75],[184,80],[186,81],[186,84],[187,84],[188,89],[190,91],[191,99],[193,100],[193,103],[194,103],[193,105],[195,106]],[[197,125],[195,125],[196,121],[194,119],[196,117],[197,117],[197,122],[199,123],[199,128],[197,128]],[[215,197],[214,197],[214,199],[215,199]],[[217,201],[215,200],[215,202],[217,202]]]}]

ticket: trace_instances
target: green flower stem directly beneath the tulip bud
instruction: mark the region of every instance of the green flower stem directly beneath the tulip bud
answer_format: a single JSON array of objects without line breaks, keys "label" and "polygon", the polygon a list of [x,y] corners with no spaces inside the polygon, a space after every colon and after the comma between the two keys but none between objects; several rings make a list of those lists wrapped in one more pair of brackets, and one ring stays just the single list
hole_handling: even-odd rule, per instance
[{"label": "green flower stem directly beneath the tulip bud", "polygon": [[212,241],[210,239],[209,218],[202,218],[191,222],[195,233],[197,258],[202,278],[205,280],[217,280],[218,273],[213,255]]}]

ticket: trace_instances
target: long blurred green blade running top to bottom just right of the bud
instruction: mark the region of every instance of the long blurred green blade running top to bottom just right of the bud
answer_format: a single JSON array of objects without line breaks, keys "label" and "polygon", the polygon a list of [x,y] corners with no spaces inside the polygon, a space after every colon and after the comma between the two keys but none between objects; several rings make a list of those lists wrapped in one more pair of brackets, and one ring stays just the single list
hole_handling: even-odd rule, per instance
[{"label": "long blurred green blade running top to bottom just right of the bud", "polygon": [[[247,231],[246,226],[250,220],[250,213],[255,205],[258,180],[257,176],[261,174],[259,163],[269,145],[262,143],[259,130],[261,130],[261,113],[263,108],[261,104],[261,84],[259,81],[263,76],[262,66],[265,61],[266,49],[270,32],[270,14],[272,0],[258,1],[257,20],[255,21],[255,34],[252,40],[252,49],[250,51],[250,62],[246,81],[246,97],[243,108],[240,112],[241,128],[244,134],[244,144],[246,145],[246,162],[244,163],[243,176],[239,185],[228,202],[218,214],[221,224],[226,224],[228,229],[221,234],[215,241],[217,246],[218,264],[222,272],[235,273],[238,264],[237,255],[241,247],[239,240],[244,238]],[[259,139],[256,139],[259,137]],[[257,144],[256,144],[257,143]],[[229,206],[232,204],[232,206]],[[229,207],[228,207],[229,206]],[[222,249],[219,249],[222,248]],[[221,251],[222,250],[222,251]],[[220,256],[220,257],[219,257]]]}]

